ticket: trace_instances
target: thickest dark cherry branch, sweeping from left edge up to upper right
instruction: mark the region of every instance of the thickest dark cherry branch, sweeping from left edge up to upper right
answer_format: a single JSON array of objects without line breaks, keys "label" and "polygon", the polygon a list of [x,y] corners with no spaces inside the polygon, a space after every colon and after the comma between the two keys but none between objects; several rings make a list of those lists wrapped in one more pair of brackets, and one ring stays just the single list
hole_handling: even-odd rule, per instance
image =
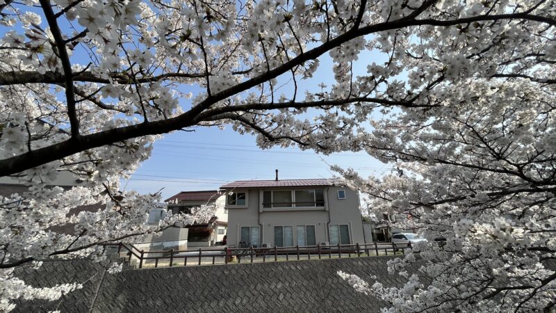
[{"label": "thickest dark cherry branch, sweeping from left edge up to upper right", "polygon": [[[41,0],[46,3],[47,0]],[[194,106],[192,109],[183,113],[175,118],[169,118],[166,120],[156,120],[151,122],[143,122],[140,125],[130,125],[126,127],[119,127],[116,129],[109,129],[106,131],[99,131],[95,134],[90,134],[86,136],[81,136],[81,138],[73,141],[63,141],[50,145],[48,147],[43,147],[33,152],[26,152],[20,154],[16,157],[11,157],[8,159],[3,159],[0,161],[0,177],[6,175],[13,175],[17,172],[22,172],[29,168],[35,166],[40,166],[44,163],[62,159],[68,157],[77,152],[92,149],[94,147],[100,147],[102,145],[108,145],[116,141],[124,141],[126,139],[152,135],[152,134],[164,134],[169,131],[174,131],[178,129],[183,129],[185,127],[190,127],[195,125],[197,116],[204,110],[210,108],[213,104],[227,99],[232,95],[237,95],[245,90],[249,90],[261,83],[268,81],[269,79],[274,79],[285,72],[289,72],[292,68],[302,65],[306,61],[318,58],[327,51],[342,45],[344,42],[352,40],[362,35],[368,35],[371,33],[377,33],[380,31],[388,31],[393,29],[402,29],[409,26],[453,26],[457,24],[467,24],[471,22],[486,22],[486,21],[498,21],[501,19],[521,19],[533,22],[541,22],[549,24],[550,26],[556,25],[556,20],[550,17],[543,17],[538,15],[530,15],[526,13],[510,13],[501,15],[478,15],[475,17],[466,17],[461,19],[452,19],[439,21],[435,19],[397,19],[390,22],[382,22],[378,24],[373,24],[370,26],[364,26],[360,29],[354,31],[348,31],[338,37],[333,38],[329,42],[325,42],[319,47],[313,48],[306,51],[304,54],[292,58],[288,61],[274,69],[260,74],[252,79],[238,83],[231,88],[222,90],[219,93],[215,93],[212,97],[205,99],[204,101]],[[64,50],[65,51],[65,50]],[[67,79],[66,79],[67,80]],[[70,79],[71,81],[71,79]],[[72,93],[73,94],[73,93]]]}]

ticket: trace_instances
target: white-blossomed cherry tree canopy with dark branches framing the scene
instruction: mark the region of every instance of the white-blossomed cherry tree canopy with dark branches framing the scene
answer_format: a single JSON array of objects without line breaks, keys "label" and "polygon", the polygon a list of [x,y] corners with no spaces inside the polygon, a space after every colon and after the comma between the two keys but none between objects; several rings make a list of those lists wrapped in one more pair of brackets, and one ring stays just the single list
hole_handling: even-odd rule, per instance
[{"label": "white-blossomed cherry tree canopy with dark branches framing the scene", "polygon": [[[391,262],[405,275],[424,259],[428,280],[389,289],[342,273],[391,310],[553,307],[553,1],[0,0],[0,21],[0,176],[29,186],[1,199],[0,310],[79,288],[33,289],[17,266],[100,260],[102,243],[210,216],[147,228],[157,195],[119,179],[160,134],[222,125],[261,148],[366,150],[403,170],[336,168],[430,239]],[[365,62],[369,51],[386,61]],[[304,88],[325,54],[334,83]],[[53,186],[68,173],[79,186]],[[67,223],[73,234],[53,230]]]}]

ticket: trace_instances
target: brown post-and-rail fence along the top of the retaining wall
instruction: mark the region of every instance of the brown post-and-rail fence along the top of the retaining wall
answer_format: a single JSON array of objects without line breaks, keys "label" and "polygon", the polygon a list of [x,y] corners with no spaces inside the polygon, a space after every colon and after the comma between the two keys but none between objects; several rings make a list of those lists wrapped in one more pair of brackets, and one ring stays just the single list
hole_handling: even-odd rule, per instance
[{"label": "brown post-and-rail fence along the top of the retaining wall", "polygon": [[[202,250],[155,250],[146,251],[127,243],[107,243],[117,248],[117,253],[126,253],[127,261],[138,262],[138,268],[161,266],[199,266],[215,264],[242,264],[279,262],[300,259],[332,259],[342,257],[371,257],[404,255],[404,249],[411,249],[411,243],[366,243],[329,246],[291,246],[273,248],[236,248]],[[390,253],[390,254],[389,254]]]}]

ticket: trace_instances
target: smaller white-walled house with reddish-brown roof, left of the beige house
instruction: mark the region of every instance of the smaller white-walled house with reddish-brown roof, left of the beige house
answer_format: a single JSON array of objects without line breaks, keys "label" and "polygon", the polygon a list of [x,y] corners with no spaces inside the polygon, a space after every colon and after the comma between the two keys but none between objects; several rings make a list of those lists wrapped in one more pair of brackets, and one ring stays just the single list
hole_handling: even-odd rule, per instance
[{"label": "smaller white-walled house with reddish-brown roof, left of the beige house", "polygon": [[[203,204],[215,207],[215,214],[208,223],[189,225],[181,228],[181,237],[185,235],[187,246],[206,247],[221,244],[228,229],[228,212],[224,209],[224,195],[219,191],[182,191],[165,200],[167,210],[172,214],[190,213],[193,207]],[[183,234],[183,232],[186,232]]]}]

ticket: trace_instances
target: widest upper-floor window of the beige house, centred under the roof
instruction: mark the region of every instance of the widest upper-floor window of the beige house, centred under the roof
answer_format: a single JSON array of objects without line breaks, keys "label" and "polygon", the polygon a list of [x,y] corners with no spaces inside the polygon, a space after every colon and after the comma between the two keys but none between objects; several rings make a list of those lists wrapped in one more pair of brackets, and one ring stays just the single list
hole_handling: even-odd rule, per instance
[{"label": "widest upper-floor window of the beige house, centred under the roof", "polygon": [[263,191],[264,208],[324,207],[325,191],[300,189],[295,191]]}]

